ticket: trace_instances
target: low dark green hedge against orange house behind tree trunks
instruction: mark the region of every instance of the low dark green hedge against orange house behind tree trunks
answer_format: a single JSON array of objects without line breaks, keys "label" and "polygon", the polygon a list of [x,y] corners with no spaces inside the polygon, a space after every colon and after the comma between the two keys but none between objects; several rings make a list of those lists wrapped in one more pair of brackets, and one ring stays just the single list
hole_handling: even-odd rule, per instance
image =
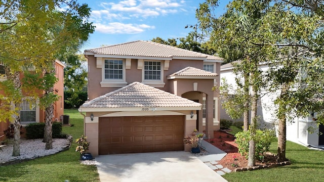
[{"label": "low dark green hedge against orange house behind tree trunks", "polygon": [[[27,139],[43,139],[44,138],[45,123],[30,123],[26,126]],[[65,138],[66,134],[62,133],[62,123],[53,122],[52,124],[52,138]]]}]

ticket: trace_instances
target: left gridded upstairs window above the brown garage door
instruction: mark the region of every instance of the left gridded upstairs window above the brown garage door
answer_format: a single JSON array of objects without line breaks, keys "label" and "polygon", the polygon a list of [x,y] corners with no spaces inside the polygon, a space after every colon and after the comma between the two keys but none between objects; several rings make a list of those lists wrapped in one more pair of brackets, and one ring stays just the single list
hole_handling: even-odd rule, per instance
[{"label": "left gridded upstairs window above the brown garage door", "polygon": [[123,79],[123,61],[105,60],[105,79]]}]

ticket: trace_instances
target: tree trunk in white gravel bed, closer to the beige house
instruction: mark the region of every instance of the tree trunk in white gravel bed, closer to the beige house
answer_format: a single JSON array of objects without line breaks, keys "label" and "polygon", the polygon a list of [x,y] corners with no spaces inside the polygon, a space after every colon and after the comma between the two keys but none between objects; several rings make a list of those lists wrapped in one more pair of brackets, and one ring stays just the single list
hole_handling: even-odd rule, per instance
[{"label": "tree trunk in white gravel bed, closer to the beige house", "polygon": [[[55,72],[55,64],[56,62],[52,62],[52,68],[49,68],[46,70],[45,74],[51,74]],[[54,86],[54,85],[53,85]],[[53,86],[50,86],[47,90],[45,90],[45,95],[53,93],[54,88]],[[45,149],[53,149],[53,139],[52,139],[52,122],[53,122],[53,110],[54,105],[53,103],[50,104],[45,109],[45,127],[44,127],[44,139],[43,142],[46,142]]]}]

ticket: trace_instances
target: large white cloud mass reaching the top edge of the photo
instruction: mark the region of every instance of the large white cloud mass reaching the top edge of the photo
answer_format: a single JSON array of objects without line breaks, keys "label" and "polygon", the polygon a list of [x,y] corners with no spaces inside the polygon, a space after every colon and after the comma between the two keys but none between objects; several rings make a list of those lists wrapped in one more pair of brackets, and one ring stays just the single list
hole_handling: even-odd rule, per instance
[{"label": "large white cloud mass reaching the top edge of the photo", "polygon": [[100,10],[92,10],[91,21],[102,33],[141,33],[155,28],[151,25],[136,24],[143,19],[184,12],[183,0],[124,0],[100,3]]}]

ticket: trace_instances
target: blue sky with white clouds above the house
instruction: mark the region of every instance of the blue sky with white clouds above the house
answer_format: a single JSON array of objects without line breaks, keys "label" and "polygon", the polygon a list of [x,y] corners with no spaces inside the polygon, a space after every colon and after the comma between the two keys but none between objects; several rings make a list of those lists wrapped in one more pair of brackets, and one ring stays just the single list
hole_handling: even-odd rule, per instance
[{"label": "blue sky with white clouds above the house", "polygon": [[[79,0],[91,8],[90,21],[96,26],[88,43],[82,49],[111,45],[135,40],[185,37],[197,23],[195,10],[203,0]],[[221,0],[215,10],[224,13],[228,0]],[[198,29],[199,32],[199,29]]]}]

